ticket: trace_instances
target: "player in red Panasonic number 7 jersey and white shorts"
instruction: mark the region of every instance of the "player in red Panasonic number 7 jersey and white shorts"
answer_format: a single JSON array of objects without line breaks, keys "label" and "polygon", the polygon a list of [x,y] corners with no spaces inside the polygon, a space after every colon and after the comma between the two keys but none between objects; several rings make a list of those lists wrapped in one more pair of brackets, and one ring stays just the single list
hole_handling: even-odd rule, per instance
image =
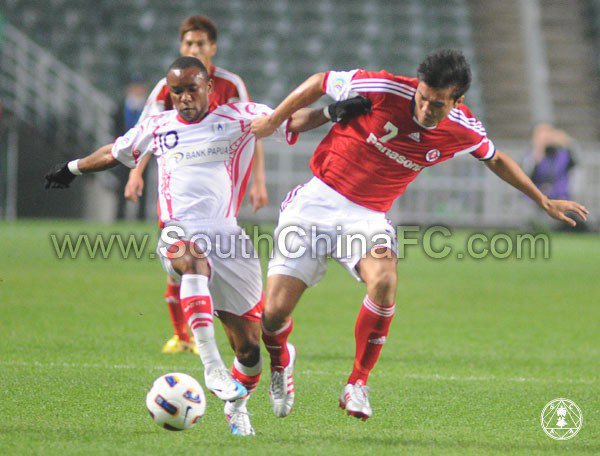
[{"label": "player in red Panasonic number 7 jersey and white shorts", "polygon": [[[252,131],[264,137],[323,94],[336,100],[360,94],[373,104],[371,114],[330,130],[310,162],[315,177],[292,190],[282,204],[277,231],[285,234],[287,253],[294,255],[274,254],[262,318],[263,341],[271,356],[269,392],[277,416],[288,415],[294,402],[296,350],[287,342],[291,314],[304,290],[325,273],[328,256],[366,284],[355,327],[354,367],[339,403],[352,416],[367,419],[372,415],[366,384],[388,335],[397,285],[395,233],[385,211],[423,169],[471,154],[549,216],[572,226],[575,221],[567,211],[586,219],[585,207],[549,199],[514,160],[495,149],[481,122],[462,104],[470,81],[469,65],[455,50],[425,58],[418,78],[386,71],[318,73],[291,92],[273,114],[253,121]],[[361,233],[370,245],[364,251],[347,253],[334,243],[315,247],[314,233],[312,240],[305,235],[311,227],[321,241]],[[312,255],[297,255],[301,248]]]}]

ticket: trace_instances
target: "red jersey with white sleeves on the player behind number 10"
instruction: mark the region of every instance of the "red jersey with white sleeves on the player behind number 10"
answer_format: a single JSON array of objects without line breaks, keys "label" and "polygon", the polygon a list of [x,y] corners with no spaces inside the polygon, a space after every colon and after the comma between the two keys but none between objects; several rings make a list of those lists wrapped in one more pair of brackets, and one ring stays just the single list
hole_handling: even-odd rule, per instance
[{"label": "red jersey with white sleeves on the player behind number 10", "polygon": [[[223,104],[236,101],[250,101],[244,81],[237,74],[231,73],[230,71],[215,65],[211,65],[208,73],[213,81],[213,90],[208,98],[210,103],[208,107],[209,112]],[[154,116],[163,111],[170,111],[171,109],[173,109],[173,102],[171,101],[171,96],[169,94],[167,78],[163,78],[156,84],[150,93],[148,100],[146,100],[146,106],[144,107],[137,124],[139,125],[150,116]]]}]

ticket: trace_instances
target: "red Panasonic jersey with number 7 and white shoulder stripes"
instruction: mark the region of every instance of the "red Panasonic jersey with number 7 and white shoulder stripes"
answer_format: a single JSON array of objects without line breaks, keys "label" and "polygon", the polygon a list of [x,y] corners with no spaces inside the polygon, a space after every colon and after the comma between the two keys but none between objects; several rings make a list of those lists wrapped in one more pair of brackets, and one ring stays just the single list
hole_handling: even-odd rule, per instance
[{"label": "red Panasonic jersey with number 7 and white shoulder stripes", "polygon": [[386,212],[424,168],[467,153],[493,157],[494,144],[463,104],[436,127],[417,123],[417,84],[386,71],[328,72],[325,93],[335,100],[363,95],[373,112],[331,128],[310,161],[313,174],[350,201]]}]

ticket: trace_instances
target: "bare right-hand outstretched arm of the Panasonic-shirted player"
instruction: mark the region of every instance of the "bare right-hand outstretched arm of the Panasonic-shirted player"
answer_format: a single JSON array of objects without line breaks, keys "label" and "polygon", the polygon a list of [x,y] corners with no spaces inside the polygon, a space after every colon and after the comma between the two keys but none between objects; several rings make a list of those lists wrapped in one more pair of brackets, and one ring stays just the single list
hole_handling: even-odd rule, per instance
[{"label": "bare right-hand outstretched arm of the Panasonic-shirted player", "polygon": [[575,201],[548,198],[536,187],[517,162],[505,153],[497,150],[496,154],[490,160],[486,161],[485,164],[502,180],[508,182],[534,200],[550,217],[565,222],[570,226],[575,226],[577,223],[571,217],[568,217],[566,212],[573,212],[581,217],[582,220],[587,220],[586,216],[589,214],[589,211],[585,206]]}]

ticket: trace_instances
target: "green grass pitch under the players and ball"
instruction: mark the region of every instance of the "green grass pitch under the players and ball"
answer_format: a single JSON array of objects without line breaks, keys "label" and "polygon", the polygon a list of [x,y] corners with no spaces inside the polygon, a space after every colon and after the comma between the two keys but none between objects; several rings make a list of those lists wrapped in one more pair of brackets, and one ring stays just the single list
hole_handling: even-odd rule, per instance
[{"label": "green grass pitch under the players and ball", "polygon": [[[153,232],[0,224],[0,454],[600,454],[597,235],[552,234],[547,260],[434,260],[410,250],[398,266],[398,306],[369,382],[367,422],[337,406],[364,288],[331,264],[295,312],[292,414],[272,415],[265,361],[249,403],[257,436],[235,438],[212,396],[190,431],[165,431],[148,416],[156,377],[202,380],[199,359],[160,353],[170,323],[159,262],[59,260],[49,238],[143,230]],[[540,427],[542,408],[558,397],[584,417],[568,441]]]}]

